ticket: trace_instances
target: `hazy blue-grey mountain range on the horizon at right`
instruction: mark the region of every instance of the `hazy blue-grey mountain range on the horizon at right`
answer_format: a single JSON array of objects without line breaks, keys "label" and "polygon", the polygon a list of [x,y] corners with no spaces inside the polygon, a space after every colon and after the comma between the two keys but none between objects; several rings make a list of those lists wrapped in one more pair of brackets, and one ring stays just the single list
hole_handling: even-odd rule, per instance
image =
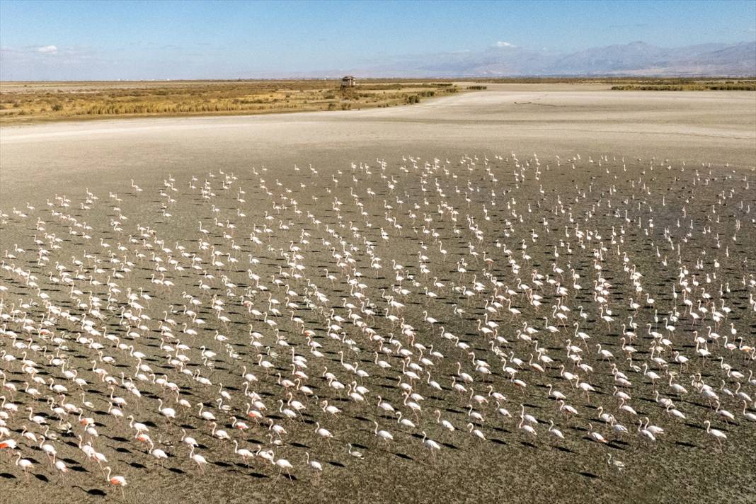
[{"label": "hazy blue-grey mountain range on the horizon at right", "polygon": [[632,42],[572,53],[500,45],[484,51],[396,57],[327,72],[329,76],[344,73],[364,77],[756,76],[756,42],[681,48]]}]

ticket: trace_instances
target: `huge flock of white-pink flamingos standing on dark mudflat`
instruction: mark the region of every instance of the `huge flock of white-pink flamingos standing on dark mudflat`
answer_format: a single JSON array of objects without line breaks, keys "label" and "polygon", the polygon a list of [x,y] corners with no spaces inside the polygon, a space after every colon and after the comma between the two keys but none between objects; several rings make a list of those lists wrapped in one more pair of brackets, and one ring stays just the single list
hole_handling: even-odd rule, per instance
[{"label": "huge flock of white-pink flamingos standing on dark mudflat", "polygon": [[738,450],[747,175],[404,156],[4,209],[0,471],[128,499],[153,468],[292,484],[373,450]]}]

